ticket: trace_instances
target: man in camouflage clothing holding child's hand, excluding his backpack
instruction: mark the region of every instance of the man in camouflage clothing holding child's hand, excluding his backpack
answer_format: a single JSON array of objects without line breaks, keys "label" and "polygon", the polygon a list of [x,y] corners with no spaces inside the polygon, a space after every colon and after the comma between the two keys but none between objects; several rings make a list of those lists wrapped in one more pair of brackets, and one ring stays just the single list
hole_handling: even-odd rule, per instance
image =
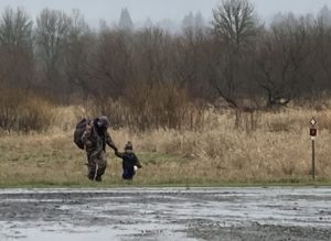
[{"label": "man in camouflage clothing holding child's hand, excluding his backpack", "polygon": [[107,117],[99,117],[90,121],[83,133],[82,140],[87,153],[88,178],[90,180],[102,182],[107,161],[105,158],[106,144],[114,151],[117,151],[107,129],[109,121]]}]

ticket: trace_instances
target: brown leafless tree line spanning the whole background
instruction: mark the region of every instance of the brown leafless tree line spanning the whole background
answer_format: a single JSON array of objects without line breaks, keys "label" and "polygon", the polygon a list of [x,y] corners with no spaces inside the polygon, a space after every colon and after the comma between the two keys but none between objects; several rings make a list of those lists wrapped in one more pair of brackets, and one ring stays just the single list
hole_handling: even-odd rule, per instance
[{"label": "brown leafless tree line spanning the whole background", "polygon": [[327,7],[318,15],[281,15],[270,24],[246,0],[224,0],[211,13],[210,26],[191,24],[171,34],[107,24],[96,31],[78,10],[44,9],[33,22],[23,9],[7,8],[0,20],[0,88],[62,105],[120,100],[137,111],[158,99],[169,111],[182,100],[273,108],[330,91]]}]

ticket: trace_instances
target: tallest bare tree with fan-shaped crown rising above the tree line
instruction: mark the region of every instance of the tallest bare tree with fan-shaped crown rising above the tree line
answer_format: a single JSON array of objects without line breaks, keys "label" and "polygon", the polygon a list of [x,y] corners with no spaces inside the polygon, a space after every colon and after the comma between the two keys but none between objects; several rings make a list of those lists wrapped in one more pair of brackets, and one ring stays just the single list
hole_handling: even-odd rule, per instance
[{"label": "tallest bare tree with fan-shaped crown rising above the tree line", "polygon": [[244,100],[254,85],[249,69],[261,26],[247,0],[224,0],[213,15],[215,39],[209,78],[218,96],[236,109],[238,125],[241,112],[256,106],[245,107]]}]

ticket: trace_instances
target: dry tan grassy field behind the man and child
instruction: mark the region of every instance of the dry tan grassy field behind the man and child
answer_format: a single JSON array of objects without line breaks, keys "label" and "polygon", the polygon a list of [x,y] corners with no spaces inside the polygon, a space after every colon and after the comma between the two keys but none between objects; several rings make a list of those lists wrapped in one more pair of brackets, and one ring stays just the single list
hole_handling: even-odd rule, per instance
[{"label": "dry tan grassy field behind the man and child", "polygon": [[[87,179],[85,153],[73,143],[79,118],[71,108],[58,110],[45,133],[1,133],[0,186],[118,186],[118,185],[254,185],[312,184],[309,121],[318,120],[318,184],[331,183],[331,111],[287,109],[242,117],[234,129],[231,112],[205,114],[199,132],[154,130],[132,133],[110,130],[122,149],[132,141],[143,164],[134,183],[121,179],[121,160],[108,149],[108,167],[102,184]],[[66,114],[65,121],[61,117]],[[252,130],[248,119],[254,121]]]}]

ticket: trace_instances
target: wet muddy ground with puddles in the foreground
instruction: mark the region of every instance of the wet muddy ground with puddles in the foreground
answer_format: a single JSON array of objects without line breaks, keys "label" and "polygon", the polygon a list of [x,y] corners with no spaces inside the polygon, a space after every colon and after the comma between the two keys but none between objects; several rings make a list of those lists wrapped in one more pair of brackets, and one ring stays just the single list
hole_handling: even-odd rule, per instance
[{"label": "wet muddy ground with puddles in the foreground", "polygon": [[331,240],[331,188],[0,189],[0,240]]}]

